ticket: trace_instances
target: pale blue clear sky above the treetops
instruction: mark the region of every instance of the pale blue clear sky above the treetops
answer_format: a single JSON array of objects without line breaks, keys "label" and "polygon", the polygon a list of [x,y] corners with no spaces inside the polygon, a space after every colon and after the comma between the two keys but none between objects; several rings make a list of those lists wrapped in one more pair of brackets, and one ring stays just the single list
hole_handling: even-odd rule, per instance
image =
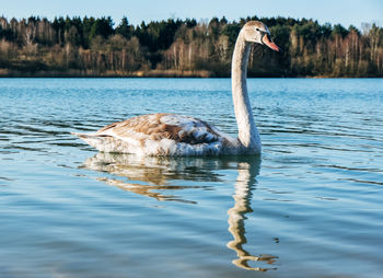
[{"label": "pale blue clear sky above the treetops", "polygon": [[112,16],[118,24],[127,16],[131,24],[170,18],[206,20],[247,15],[314,19],[360,28],[362,23],[383,26],[383,0],[0,0],[0,15],[22,19],[39,15]]}]

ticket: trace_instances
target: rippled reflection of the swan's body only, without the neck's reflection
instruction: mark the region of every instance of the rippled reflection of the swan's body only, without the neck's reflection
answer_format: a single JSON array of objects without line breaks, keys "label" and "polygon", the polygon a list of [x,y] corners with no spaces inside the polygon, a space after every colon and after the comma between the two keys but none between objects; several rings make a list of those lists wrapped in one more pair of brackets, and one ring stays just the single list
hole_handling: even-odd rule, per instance
[{"label": "rippled reflection of the swan's body only, without the neck's reflection", "polygon": [[[175,200],[196,204],[178,196],[166,194],[170,190],[201,188],[211,186],[171,185],[171,181],[204,181],[219,182],[219,175],[210,169],[218,169],[218,160],[187,159],[187,158],[155,158],[138,157],[134,154],[117,154],[98,152],[86,159],[83,167],[113,174],[112,177],[97,179],[108,185],[135,194],[152,197],[158,200]],[[124,177],[124,179],[120,179]]]}]

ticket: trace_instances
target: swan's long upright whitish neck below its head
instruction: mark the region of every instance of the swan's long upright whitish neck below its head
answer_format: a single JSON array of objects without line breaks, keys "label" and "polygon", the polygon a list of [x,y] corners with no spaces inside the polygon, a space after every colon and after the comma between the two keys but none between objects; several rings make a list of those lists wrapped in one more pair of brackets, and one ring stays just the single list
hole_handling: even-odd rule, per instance
[{"label": "swan's long upright whitish neck below its head", "polygon": [[247,151],[259,153],[260,139],[257,127],[255,126],[246,84],[249,50],[251,43],[247,43],[244,35],[240,33],[236,39],[231,68],[232,94],[239,127],[239,140]]}]

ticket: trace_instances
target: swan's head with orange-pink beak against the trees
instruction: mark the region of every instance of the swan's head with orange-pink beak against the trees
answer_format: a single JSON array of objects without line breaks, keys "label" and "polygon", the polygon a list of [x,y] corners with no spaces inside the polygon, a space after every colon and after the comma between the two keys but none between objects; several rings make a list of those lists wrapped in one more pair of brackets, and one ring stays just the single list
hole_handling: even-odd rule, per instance
[{"label": "swan's head with orange-pink beak against the trees", "polygon": [[260,21],[249,21],[241,30],[246,42],[267,45],[275,51],[280,51],[279,47],[272,42],[270,31]]}]

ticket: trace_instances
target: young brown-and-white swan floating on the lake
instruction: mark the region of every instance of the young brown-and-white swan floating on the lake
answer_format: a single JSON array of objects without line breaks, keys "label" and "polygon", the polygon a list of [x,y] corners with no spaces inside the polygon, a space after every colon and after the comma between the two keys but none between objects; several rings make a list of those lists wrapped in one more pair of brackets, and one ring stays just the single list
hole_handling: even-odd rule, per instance
[{"label": "young brown-and-white swan floating on the lake", "polygon": [[230,137],[201,119],[169,113],[132,117],[93,134],[72,134],[102,152],[158,157],[259,154],[260,138],[246,85],[247,60],[253,43],[279,51],[264,23],[249,21],[241,28],[231,67],[237,138]]}]

